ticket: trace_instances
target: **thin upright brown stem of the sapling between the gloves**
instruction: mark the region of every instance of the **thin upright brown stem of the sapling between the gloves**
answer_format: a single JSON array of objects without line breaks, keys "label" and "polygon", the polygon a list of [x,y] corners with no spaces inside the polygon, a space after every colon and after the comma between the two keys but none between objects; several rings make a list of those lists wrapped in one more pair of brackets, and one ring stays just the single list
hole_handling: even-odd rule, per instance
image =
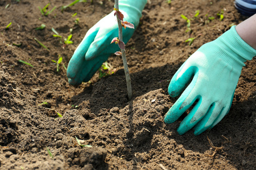
[{"label": "thin upright brown stem of the sapling between the gloves", "polygon": [[[117,8],[119,10],[118,0],[115,0],[115,8]],[[117,23],[118,23],[118,33],[119,33],[118,39],[120,41],[123,41],[123,33],[122,33],[123,27],[121,24],[121,20],[119,20],[118,16],[117,16]],[[125,69],[125,78],[126,78],[126,84],[127,84],[128,99],[131,100],[131,97],[133,96],[133,92],[131,91],[131,78],[130,78],[129,69],[127,66],[125,50],[121,49],[121,52],[122,52],[122,59],[123,59],[123,67]]]}]

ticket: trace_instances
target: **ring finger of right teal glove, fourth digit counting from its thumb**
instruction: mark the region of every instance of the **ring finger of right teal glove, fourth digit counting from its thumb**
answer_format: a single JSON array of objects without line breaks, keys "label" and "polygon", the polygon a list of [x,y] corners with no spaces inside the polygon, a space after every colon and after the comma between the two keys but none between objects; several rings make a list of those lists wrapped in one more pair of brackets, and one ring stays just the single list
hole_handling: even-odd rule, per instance
[{"label": "ring finger of right teal glove, fourth digit counting from its thumb", "polygon": [[223,110],[224,108],[221,105],[213,103],[204,118],[196,124],[194,134],[199,135],[205,130],[208,130]]}]

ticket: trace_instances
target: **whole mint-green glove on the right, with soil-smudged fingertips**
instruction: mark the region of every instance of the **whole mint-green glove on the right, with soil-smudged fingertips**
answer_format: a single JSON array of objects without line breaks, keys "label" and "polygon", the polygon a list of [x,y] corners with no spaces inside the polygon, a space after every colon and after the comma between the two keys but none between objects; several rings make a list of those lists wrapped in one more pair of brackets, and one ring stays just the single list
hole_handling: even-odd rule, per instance
[{"label": "whole mint-green glove on the right, with soil-smudged fingertips", "polygon": [[[171,97],[181,94],[164,117],[170,124],[197,101],[180,123],[182,135],[195,126],[195,135],[213,128],[229,112],[243,62],[252,59],[256,50],[237,34],[236,26],[218,39],[204,44],[175,73],[168,87]],[[191,83],[190,82],[192,78]]]}]

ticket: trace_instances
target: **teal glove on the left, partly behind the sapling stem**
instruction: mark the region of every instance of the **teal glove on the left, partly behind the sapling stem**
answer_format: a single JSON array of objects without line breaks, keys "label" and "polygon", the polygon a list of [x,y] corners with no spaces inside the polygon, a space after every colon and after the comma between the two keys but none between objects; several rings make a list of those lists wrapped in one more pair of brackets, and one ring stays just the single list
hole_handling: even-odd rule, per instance
[{"label": "teal glove on the left, partly behind the sapling stem", "polygon": [[[127,22],[137,28],[141,12],[147,0],[120,0],[119,10]],[[123,42],[129,41],[134,29],[123,28]],[[115,43],[110,44],[114,37],[118,37],[117,18],[114,11],[102,18],[86,33],[75,53],[68,63],[68,82],[79,85],[88,82],[108,57],[119,50]]]}]

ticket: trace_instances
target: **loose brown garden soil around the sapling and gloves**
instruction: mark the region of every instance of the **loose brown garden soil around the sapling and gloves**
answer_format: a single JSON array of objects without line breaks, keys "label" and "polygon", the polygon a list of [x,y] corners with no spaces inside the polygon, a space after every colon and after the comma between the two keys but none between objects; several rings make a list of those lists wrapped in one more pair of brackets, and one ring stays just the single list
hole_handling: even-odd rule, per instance
[{"label": "loose brown garden soil around the sapling and gloves", "polygon": [[[49,10],[57,8],[43,16],[38,6],[43,8],[49,2]],[[130,102],[120,57],[108,61],[117,69],[115,74],[98,79],[96,73],[90,83],[79,87],[69,86],[62,65],[56,71],[52,59],[61,55],[67,66],[86,31],[114,5],[113,0],[94,0],[61,12],[60,7],[71,2],[0,1],[0,169],[256,167],[255,57],[242,70],[229,114],[212,130],[199,136],[193,130],[179,135],[176,129],[184,116],[174,124],[163,122],[177,100],[167,93],[176,70],[201,45],[245,19],[233,0],[173,0],[171,5],[148,0],[141,24],[126,48],[133,87]],[[199,18],[191,20],[192,33],[187,33],[180,15],[193,18],[196,10],[200,10]],[[222,21],[217,16],[221,10]],[[207,22],[206,14],[215,19]],[[76,18],[79,24],[75,24]],[[35,30],[41,24],[46,28]],[[72,28],[74,43],[63,46],[52,36],[52,27],[63,37]],[[189,37],[197,37],[191,46],[184,42]],[[39,105],[45,100],[48,104]],[[92,147],[79,146],[75,137]]]}]

